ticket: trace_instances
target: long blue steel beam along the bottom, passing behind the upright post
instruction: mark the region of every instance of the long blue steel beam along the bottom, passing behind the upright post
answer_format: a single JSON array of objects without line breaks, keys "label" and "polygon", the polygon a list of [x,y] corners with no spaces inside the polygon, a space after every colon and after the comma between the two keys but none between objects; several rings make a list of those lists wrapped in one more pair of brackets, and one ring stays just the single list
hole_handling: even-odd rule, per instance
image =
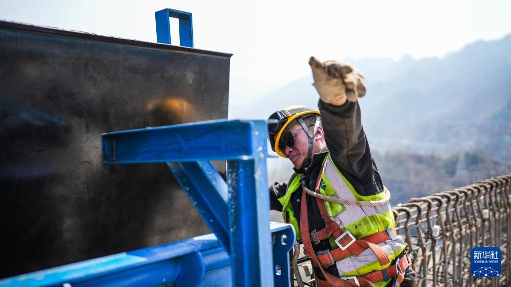
[{"label": "long blue steel beam along the bottom, passing behind the upright post", "polygon": [[[287,235],[289,244],[273,241],[273,262],[288,263],[294,242],[289,224],[270,224],[273,238]],[[85,260],[0,280],[0,287],[42,286],[231,286],[231,260],[214,234]],[[280,265],[283,271],[289,265]],[[234,274],[233,274],[234,275]],[[289,286],[282,273],[276,286]],[[239,286],[239,285],[238,285]],[[262,285],[264,286],[264,285]]]}]

